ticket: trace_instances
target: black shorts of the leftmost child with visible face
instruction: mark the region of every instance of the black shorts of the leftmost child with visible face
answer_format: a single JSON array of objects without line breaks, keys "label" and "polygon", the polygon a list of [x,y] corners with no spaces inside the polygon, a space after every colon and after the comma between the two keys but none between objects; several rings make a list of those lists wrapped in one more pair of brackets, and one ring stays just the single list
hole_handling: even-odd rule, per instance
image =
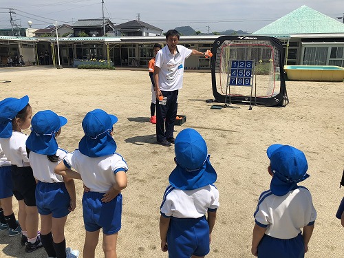
[{"label": "black shorts of the leftmost child with visible face", "polygon": [[24,200],[27,206],[36,206],[36,180],[31,166],[11,166],[13,194],[17,200]]}]

